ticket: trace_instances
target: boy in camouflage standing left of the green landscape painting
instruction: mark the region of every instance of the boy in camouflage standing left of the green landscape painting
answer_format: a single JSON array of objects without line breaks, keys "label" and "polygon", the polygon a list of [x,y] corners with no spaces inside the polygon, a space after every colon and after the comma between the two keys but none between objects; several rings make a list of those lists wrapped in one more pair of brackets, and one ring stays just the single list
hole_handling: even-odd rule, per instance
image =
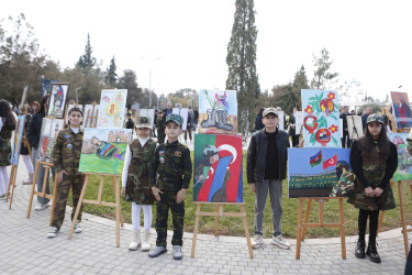
[{"label": "boy in camouflage standing left of the green landscape painting", "polygon": [[[77,107],[68,113],[69,128],[62,130],[53,147],[53,164],[57,176],[56,206],[52,227],[47,234],[48,238],[55,238],[65,220],[66,202],[71,186],[73,210],[71,219],[75,216],[77,204],[79,201],[81,188],[83,186],[83,175],[78,172],[81,145],[83,140],[83,130],[80,129],[83,120],[83,113]],[[75,226],[75,232],[81,233],[80,227],[82,206]]]}]

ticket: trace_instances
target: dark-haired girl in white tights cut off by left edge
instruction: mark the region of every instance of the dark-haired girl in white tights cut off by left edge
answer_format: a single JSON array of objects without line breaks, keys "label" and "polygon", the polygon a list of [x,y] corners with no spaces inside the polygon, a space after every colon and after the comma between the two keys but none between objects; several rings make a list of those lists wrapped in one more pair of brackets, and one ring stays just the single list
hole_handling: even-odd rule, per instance
[{"label": "dark-haired girl in white tights cut off by left edge", "polygon": [[4,198],[9,188],[10,175],[7,166],[11,165],[11,133],[18,118],[8,101],[0,100],[0,198]]}]

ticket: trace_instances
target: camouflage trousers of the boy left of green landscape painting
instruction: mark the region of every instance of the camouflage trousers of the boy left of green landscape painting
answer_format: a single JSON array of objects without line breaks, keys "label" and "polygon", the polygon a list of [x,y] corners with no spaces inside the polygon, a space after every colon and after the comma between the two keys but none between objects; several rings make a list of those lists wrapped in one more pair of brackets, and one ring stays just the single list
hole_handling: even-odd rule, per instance
[{"label": "camouflage trousers of the boy left of green landscape painting", "polygon": [[[57,176],[57,175],[56,175]],[[60,228],[63,221],[65,220],[66,213],[66,204],[67,197],[71,187],[73,195],[73,210],[71,210],[71,220],[75,216],[77,204],[79,202],[79,197],[81,188],[83,187],[85,178],[83,175],[65,175],[63,174],[63,182],[57,184],[56,190],[56,206],[54,209],[52,227]],[[83,211],[83,206],[80,207],[79,216],[77,217],[78,221],[81,221],[81,213]]]}]

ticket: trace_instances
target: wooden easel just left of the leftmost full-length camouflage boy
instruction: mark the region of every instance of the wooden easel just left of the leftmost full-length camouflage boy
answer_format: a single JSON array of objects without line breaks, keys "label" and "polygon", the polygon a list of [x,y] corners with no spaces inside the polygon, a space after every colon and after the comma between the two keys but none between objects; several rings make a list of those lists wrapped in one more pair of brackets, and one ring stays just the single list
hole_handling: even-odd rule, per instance
[{"label": "wooden easel just left of the leftmost full-length camouflage boy", "polygon": [[[38,174],[38,168],[40,166],[43,166],[46,170],[44,172],[44,179],[43,179],[43,189],[42,189],[42,193],[38,193],[35,190],[36,188],[36,180],[37,180],[37,174]],[[53,201],[52,204],[52,213],[51,213],[51,221],[49,221],[49,224],[52,227],[52,221],[53,221],[53,216],[54,216],[54,208],[56,206],[56,200],[54,199],[56,197],[56,190],[57,190],[57,176],[55,176],[54,178],[54,186],[53,186],[53,195],[48,195],[46,194],[46,185],[47,185],[47,180],[48,180],[48,177],[49,177],[49,170],[51,168],[53,167],[53,164],[52,163],[46,163],[46,162],[41,162],[41,161],[37,161],[36,162],[36,167],[34,169],[34,176],[33,176],[33,184],[32,184],[32,194],[30,195],[30,200],[29,200],[29,208],[27,208],[27,219],[30,218],[30,213],[32,211],[32,205],[33,205],[33,197],[34,195],[37,195],[37,197],[42,197],[42,198],[48,198]]]}]

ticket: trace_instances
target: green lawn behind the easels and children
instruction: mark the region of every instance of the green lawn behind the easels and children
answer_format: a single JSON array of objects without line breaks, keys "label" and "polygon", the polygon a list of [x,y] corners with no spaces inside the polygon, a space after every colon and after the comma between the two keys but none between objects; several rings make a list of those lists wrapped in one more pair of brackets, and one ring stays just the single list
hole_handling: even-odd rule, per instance
[{"label": "green lawn behind the easels and children", "polygon": [[[193,157],[192,157],[193,160]],[[243,153],[243,178],[244,178],[244,201],[245,201],[245,209],[247,215],[247,224],[249,233],[253,234],[254,232],[254,202],[255,196],[252,193],[250,188],[246,183],[246,151]],[[91,176],[87,191],[86,191],[86,199],[97,199],[99,193],[99,180],[100,177]],[[194,212],[196,212],[196,205],[192,202],[192,183],[190,184],[191,187],[187,191],[186,195],[186,215],[185,215],[185,231],[186,232],[193,232],[194,229]],[[403,200],[405,206],[405,218],[407,221],[412,220],[412,199],[411,194],[409,190],[408,184],[402,184],[403,190]],[[400,208],[399,208],[399,193],[398,193],[398,184],[393,186],[394,198],[397,201],[397,208],[385,213],[385,219],[382,223],[381,231],[387,231],[394,228],[401,227],[401,218],[400,218]],[[114,193],[113,187],[111,184],[111,179],[107,177],[104,179],[104,189],[102,200],[104,201],[112,201],[114,202]],[[71,199],[69,199],[71,204]],[[122,204],[122,215],[125,222],[131,223],[131,204],[124,201],[121,198]],[[318,204],[312,204],[312,209],[310,213],[310,222],[318,222]],[[305,205],[304,205],[305,207]],[[297,220],[298,220],[298,208],[299,208],[299,199],[289,199],[288,198],[288,180],[283,180],[283,195],[282,195],[282,208],[283,208],[283,216],[282,216],[282,233],[287,238],[296,238],[297,235]],[[214,206],[205,205],[201,208],[202,211],[214,211]],[[237,206],[225,206],[224,211],[238,211]],[[97,215],[100,217],[115,219],[114,207],[102,207],[96,205],[85,204],[85,212]],[[143,222],[143,213],[141,221]],[[171,215],[169,215],[169,229],[171,230]],[[352,205],[344,202],[344,216],[345,216],[345,232],[347,235],[356,235],[357,234],[357,217],[358,217],[358,209],[355,209]],[[324,204],[324,222],[338,222],[338,200],[330,200],[329,202]],[[155,224],[156,219],[156,207],[153,207],[153,222],[152,227]],[[213,233],[214,229],[214,218],[212,217],[201,217],[199,231],[200,233]],[[266,201],[266,212],[264,217],[264,237],[270,238],[272,231],[272,221],[271,221],[271,210],[270,210],[270,201],[269,198]],[[242,237],[245,234],[243,222],[241,218],[229,218],[229,217],[221,217],[219,219],[219,233],[221,235],[238,235]],[[331,238],[331,237],[339,237],[338,229],[308,229],[307,231],[308,238]]]}]

